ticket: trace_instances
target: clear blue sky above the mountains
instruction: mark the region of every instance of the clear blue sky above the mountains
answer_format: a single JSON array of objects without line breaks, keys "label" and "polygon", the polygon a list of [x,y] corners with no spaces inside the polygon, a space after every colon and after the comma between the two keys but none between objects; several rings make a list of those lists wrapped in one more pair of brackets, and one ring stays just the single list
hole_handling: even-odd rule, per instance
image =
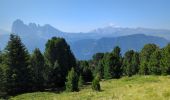
[{"label": "clear blue sky above the mountains", "polygon": [[107,25],[170,29],[170,0],[0,0],[0,29],[9,31],[16,19],[66,32]]}]

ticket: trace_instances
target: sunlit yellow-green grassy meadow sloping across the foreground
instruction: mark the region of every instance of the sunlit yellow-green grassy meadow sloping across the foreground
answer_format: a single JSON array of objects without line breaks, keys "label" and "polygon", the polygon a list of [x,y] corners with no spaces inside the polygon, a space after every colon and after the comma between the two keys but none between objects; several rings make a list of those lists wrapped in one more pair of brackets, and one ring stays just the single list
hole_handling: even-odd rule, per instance
[{"label": "sunlit yellow-green grassy meadow sloping across the foreground", "polygon": [[35,92],[11,100],[170,100],[170,76],[133,76],[101,82],[101,92],[85,86],[79,92]]}]

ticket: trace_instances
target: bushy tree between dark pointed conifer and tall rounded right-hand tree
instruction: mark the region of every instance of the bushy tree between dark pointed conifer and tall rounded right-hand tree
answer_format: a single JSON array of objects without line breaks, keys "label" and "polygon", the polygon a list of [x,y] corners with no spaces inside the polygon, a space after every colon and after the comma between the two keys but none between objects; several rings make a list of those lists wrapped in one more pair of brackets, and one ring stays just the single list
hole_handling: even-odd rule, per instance
[{"label": "bushy tree between dark pointed conifer and tall rounded right-hand tree", "polygon": [[133,50],[129,50],[125,53],[123,59],[123,73],[127,76],[132,76],[138,73],[139,70],[139,55]]}]

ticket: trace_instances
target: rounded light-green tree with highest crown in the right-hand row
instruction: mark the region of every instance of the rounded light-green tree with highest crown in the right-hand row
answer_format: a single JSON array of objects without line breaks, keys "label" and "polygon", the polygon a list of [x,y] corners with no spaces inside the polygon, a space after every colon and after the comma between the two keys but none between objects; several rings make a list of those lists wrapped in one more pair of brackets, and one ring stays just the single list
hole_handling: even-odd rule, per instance
[{"label": "rounded light-green tree with highest crown in the right-hand row", "polygon": [[146,44],[140,52],[140,69],[139,73],[143,75],[149,74],[148,62],[152,53],[159,49],[155,44]]}]

